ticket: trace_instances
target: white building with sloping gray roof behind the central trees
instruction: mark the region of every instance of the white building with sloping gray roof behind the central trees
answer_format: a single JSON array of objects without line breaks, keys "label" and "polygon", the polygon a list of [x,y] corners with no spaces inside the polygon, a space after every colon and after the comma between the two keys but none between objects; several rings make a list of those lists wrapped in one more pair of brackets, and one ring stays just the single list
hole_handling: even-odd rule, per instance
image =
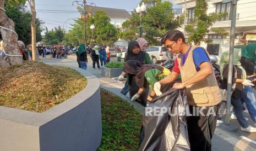
[{"label": "white building with sloping gray roof behind the central trees", "polygon": [[130,14],[125,9],[106,7],[92,7],[91,15],[94,15],[97,10],[104,10],[108,17],[110,17],[110,23],[116,27],[122,27],[123,22],[130,18]]}]

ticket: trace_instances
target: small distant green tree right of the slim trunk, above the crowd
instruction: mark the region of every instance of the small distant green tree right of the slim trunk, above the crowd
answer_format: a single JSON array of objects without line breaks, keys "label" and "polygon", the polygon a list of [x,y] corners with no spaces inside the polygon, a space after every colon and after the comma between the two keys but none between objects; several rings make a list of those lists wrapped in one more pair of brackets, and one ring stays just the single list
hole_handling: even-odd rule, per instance
[{"label": "small distant green tree right of the slim trunk, above the crowd", "polygon": [[58,28],[55,27],[55,30],[48,31],[46,30],[45,36],[43,36],[43,43],[47,45],[54,45],[59,44],[64,39],[64,31],[59,26]]}]

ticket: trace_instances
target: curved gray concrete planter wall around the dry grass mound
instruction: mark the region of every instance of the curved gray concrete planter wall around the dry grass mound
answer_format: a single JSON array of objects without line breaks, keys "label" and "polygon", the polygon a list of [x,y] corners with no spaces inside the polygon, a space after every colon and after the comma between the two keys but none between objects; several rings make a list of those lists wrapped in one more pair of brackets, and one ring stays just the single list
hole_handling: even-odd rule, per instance
[{"label": "curved gray concrete planter wall around the dry grass mound", "polygon": [[[72,67],[74,68],[74,67]],[[88,79],[84,90],[43,113],[0,106],[0,150],[96,150],[102,137],[99,80]]]}]

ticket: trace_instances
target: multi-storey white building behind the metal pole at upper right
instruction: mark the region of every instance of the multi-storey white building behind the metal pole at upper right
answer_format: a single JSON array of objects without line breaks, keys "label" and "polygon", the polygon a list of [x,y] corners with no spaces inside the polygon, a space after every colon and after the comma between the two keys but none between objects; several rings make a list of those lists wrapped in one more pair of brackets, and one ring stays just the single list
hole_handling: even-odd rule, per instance
[{"label": "multi-storey white building behind the metal pole at upper right", "polygon": [[[186,3],[185,3],[186,1]],[[173,0],[175,4],[182,5],[182,11],[187,9],[189,19],[194,18],[195,0]],[[225,19],[218,20],[214,27],[224,28],[230,32],[231,27],[231,2],[222,3],[222,0],[206,0],[208,3],[208,13],[228,13]],[[235,45],[256,42],[256,0],[239,0],[237,2],[236,19],[236,39]],[[179,30],[184,31],[183,28]],[[223,37],[215,33],[209,33],[208,37],[213,39],[213,44],[201,43],[201,47],[206,48],[210,54],[220,56],[223,51],[230,48],[230,37]],[[205,38],[208,38],[205,37]]]}]

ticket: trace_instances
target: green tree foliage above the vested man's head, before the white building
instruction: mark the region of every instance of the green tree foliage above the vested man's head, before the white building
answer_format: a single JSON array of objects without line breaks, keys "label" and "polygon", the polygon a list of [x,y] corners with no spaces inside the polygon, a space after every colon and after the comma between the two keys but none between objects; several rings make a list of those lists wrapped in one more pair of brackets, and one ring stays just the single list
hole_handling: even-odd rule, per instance
[{"label": "green tree foliage above the vested man's head, before the white building", "polygon": [[215,20],[224,18],[227,14],[211,13],[207,14],[208,4],[205,0],[197,0],[195,2],[195,19],[191,20],[192,24],[186,25],[185,31],[188,34],[188,43],[194,42],[195,45],[199,45],[201,41],[210,43],[211,39],[205,39],[207,33],[210,31],[218,32],[219,34],[226,35],[225,30],[221,28],[211,29]]}]

